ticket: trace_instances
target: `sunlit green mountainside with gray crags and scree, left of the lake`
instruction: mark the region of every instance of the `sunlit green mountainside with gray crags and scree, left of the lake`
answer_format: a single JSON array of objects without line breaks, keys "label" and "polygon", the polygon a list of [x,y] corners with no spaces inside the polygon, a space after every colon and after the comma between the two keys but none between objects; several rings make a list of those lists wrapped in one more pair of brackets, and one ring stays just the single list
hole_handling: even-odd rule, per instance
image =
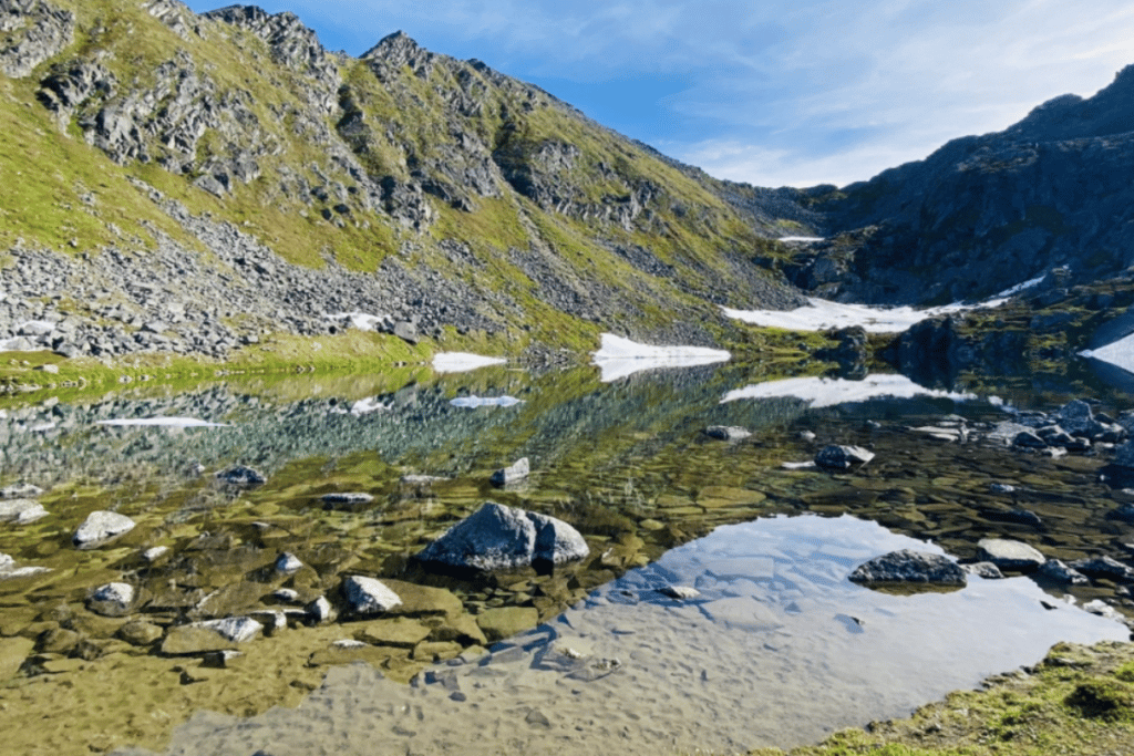
[{"label": "sunlit green mountainside with gray crags and scree, left of the lake", "polygon": [[401,33],[291,14],[0,0],[0,339],[223,356],[380,316],[519,351],[711,342],[796,301],[755,258],[809,211],[710,179]]}]

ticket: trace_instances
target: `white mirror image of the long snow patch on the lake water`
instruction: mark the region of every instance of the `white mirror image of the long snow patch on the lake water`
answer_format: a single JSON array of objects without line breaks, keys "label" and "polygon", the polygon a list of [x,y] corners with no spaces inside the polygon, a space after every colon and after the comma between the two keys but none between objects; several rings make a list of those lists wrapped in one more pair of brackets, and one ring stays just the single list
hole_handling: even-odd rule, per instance
[{"label": "white mirror image of the long snow patch on the lake water", "polygon": [[938,391],[917,385],[905,375],[871,374],[861,381],[845,379],[801,377],[769,381],[736,389],[725,394],[721,404],[737,399],[771,399],[773,397],[795,397],[807,401],[811,407],[832,407],[854,401],[866,401],[882,397],[911,399],[913,397],[932,397],[970,401],[976,399],[974,393],[954,393]]}]

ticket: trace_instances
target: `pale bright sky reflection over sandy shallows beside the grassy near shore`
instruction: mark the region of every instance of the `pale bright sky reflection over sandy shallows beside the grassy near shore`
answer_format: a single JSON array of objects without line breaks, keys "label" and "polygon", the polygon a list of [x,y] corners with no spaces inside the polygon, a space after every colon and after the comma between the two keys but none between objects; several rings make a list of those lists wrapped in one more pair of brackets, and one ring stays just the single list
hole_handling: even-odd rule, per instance
[{"label": "pale bright sky reflection over sandy shallows beside the grassy near shore", "polygon": [[[353,665],[297,710],[196,714],[169,754],[624,754],[814,741],[907,714],[1053,643],[1126,628],[1044,609],[1025,578],[896,596],[850,584],[862,561],[940,550],[848,516],[718,528],[608,584],[491,654],[409,687]],[[696,587],[678,602],[654,589]],[[348,629],[348,628],[344,628]]]}]

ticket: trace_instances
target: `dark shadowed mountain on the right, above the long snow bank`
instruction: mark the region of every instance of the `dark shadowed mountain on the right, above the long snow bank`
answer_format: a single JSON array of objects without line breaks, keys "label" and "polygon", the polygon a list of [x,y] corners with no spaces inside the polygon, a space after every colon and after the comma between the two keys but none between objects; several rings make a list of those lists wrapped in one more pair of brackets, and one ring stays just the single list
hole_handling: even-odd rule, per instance
[{"label": "dark shadowed mountain on the right, above the long snow bank", "polygon": [[830,241],[785,266],[844,300],[943,304],[1057,269],[1085,283],[1134,264],[1134,67],[1089,99],[1064,95],[1004,131],[804,204]]}]

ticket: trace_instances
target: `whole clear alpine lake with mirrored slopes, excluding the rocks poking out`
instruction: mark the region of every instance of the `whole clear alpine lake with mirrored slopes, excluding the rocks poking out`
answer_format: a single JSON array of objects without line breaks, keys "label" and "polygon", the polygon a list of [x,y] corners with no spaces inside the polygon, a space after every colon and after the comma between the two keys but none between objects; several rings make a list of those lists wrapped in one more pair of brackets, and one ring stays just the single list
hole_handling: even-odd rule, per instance
[{"label": "whole clear alpine lake with mirrored slopes, excluding the rocks poking out", "polygon": [[[1057,642],[1129,638],[1080,609],[1134,617],[1117,579],[1007,572],[905,593],[847,579],[899,549],[974,562],[985,537],[1128,560],[1134,525],[1108,517],[1128,496],[1100,482],[1105,455],[985,438],[1070,399],[1115,416],[1134,408],[1122,387],[1084,363],[907,398],[722,401],[761,381],[735,363],[609,383],[592,366],[421,367],[10,402],[0,483],[42,487],[48,515],[0,524],[0,553],[48,571],[0,579],[5,753],[737,753],[905,716]],[[468,397],[519,401],[454,404]],[[105,423],[159,417],[223,425]],[[874,458],[784,466],[830,443]],[[524,457],[525,479],[490,483]],[[265,482],[219,481],[234,465]],[[372,499],[324,503],[335,493]],[[567,521],[590,557],[480,576],[415,561],[485,501]],[[76,549],[96,510],[137,525]],[[301,566],[278,567],[285,553]],[[347,576],[403,604],[350,615]],[[134,588],[128,608],[96,611],[109,583]],[[320,597],[330,612],[311,609]],[[213,647],[171,639],[229,617],[264,627]]]}]

